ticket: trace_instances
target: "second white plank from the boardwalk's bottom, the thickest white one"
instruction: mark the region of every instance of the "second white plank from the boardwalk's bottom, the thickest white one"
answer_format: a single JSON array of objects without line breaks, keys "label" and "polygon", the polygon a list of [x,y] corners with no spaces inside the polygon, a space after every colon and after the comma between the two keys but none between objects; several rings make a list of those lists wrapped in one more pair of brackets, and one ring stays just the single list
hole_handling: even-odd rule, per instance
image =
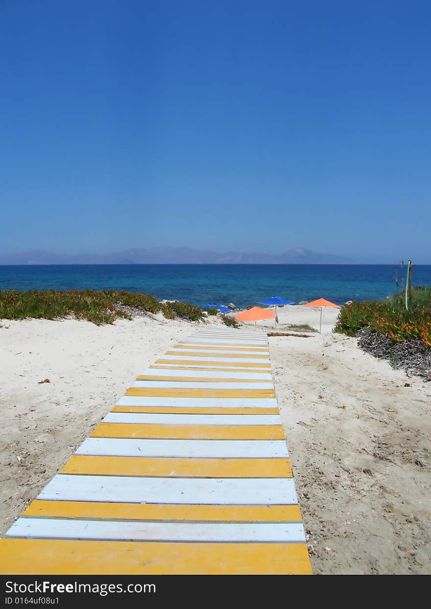
[{"label": "second white plank from the boardwalk's bottom, the thickest white one", "polygon": [[297,504],[293,478],[171,478],[57,474],[38,499],[200,505]]}]

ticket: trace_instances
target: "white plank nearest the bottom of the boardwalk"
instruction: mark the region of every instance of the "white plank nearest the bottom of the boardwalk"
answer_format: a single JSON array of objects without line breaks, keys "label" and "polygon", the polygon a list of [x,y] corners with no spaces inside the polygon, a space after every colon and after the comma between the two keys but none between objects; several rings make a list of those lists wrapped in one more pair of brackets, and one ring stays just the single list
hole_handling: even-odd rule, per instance
[{"label": "white plank nearest the bottom of the boardwalk", "polygon": [[305,542],[300,523],[155,523],[19,518],[7,537],[110,541]]}]

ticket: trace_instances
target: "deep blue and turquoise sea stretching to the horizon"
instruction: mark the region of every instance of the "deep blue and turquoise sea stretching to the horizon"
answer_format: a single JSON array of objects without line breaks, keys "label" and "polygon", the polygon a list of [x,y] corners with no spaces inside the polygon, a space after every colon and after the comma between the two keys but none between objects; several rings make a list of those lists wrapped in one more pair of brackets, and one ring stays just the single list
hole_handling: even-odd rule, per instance
[{"label": "deep blue and turquoise sea stretching to the horizon", "polygon": [[[406,267],[398,276],[405,281]],[[413,267],[413,284],[431,286],[431,265]],[[253,306],[273,295],[295,303],[327,298],[380,300],[394,294],[392,265],[360,264],[89,264],[0,266],[0,290],[121,289],[184,300]]]}]

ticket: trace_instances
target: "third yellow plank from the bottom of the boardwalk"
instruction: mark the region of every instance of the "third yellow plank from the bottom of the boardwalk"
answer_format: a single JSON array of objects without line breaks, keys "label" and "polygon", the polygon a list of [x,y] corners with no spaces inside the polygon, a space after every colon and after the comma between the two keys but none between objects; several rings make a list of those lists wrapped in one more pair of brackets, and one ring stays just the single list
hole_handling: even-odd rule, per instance
[{"label": "third yellow plank from the bottom of the boardwalk", "polygon": [[201,478],[291,478],[289,459],[180,459],[74,455],[61,474]]}]

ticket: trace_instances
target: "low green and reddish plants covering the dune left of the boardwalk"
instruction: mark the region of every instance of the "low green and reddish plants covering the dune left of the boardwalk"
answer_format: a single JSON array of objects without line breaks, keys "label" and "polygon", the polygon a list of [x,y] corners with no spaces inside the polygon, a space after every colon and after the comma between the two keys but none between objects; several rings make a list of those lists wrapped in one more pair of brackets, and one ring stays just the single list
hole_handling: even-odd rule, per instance
[{"label": "low green and reddish plants covering the dune left of the boardwalk", "polygon": [[18,290],[0,291],[0,319],[59,319],[73,315],[96,325],[131,319],[131,311],[158,313],[167,319],[197,321],[202,311],[189,303],[158,302],[157,298],[124,290]]}]

